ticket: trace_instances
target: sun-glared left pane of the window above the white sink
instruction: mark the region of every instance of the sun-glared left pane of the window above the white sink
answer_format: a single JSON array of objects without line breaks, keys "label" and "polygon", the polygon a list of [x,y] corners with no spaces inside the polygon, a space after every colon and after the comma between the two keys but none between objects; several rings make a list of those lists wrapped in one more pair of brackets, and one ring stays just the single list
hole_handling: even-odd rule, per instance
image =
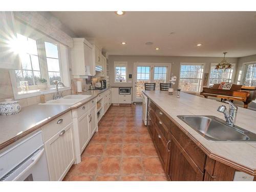
[{"label": "sun-glared left pane of the window above the white sink", "polygon": [[20,52],[22,70],[15,71],[17,86],[24,81],[28,82],[28,86],[36,86],[41,77],[36,41],[20,34],[17,34],[17,40],[23,45],[23,51]]}]

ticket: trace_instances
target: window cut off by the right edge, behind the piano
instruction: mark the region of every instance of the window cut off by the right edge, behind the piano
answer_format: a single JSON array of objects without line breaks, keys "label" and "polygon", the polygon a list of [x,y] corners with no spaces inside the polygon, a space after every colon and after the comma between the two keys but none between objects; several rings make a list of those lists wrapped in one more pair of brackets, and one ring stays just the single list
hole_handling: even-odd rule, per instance
[{"label": "window cut off by the right edge, behind the piano", "polygon": [[244,85],[255,87],[256,86],[256,62],[246,64],[244,71],[246,72]]}]

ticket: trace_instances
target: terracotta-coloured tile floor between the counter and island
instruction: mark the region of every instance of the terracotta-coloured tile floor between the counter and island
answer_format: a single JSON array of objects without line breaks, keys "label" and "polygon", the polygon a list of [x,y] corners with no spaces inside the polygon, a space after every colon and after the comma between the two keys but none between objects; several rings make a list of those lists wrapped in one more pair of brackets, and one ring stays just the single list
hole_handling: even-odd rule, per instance
[{"label": "terracotta-coloured tile floor between the counter and island", "polygon": [[111,106],[65,181],[166,181],[142,106]]}]

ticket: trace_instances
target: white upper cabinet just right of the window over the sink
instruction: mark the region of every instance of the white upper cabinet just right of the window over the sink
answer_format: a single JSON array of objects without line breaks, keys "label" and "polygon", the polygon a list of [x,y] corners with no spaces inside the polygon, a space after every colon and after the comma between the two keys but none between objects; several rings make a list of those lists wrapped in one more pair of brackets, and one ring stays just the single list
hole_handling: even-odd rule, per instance
[{"label": "white upper cabinet just right of the window over the sink", "polygon": [[95,75],[93,47],[85,38],[73,38],[71,48],[72,75],[76,77]]}]

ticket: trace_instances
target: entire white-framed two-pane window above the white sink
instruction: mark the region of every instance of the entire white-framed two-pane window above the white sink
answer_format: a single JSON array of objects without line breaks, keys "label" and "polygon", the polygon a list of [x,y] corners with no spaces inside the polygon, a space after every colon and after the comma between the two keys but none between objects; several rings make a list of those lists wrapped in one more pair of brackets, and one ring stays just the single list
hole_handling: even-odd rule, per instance
[{"label": "entire white-framed two-pane window above the white sink", "polygon": [[[54,80],[70,89],[68,48],[16,20],[21,70],[10,70],[15,99],[55,92]],[[45,82],[46,81],[46,82]]]}]

